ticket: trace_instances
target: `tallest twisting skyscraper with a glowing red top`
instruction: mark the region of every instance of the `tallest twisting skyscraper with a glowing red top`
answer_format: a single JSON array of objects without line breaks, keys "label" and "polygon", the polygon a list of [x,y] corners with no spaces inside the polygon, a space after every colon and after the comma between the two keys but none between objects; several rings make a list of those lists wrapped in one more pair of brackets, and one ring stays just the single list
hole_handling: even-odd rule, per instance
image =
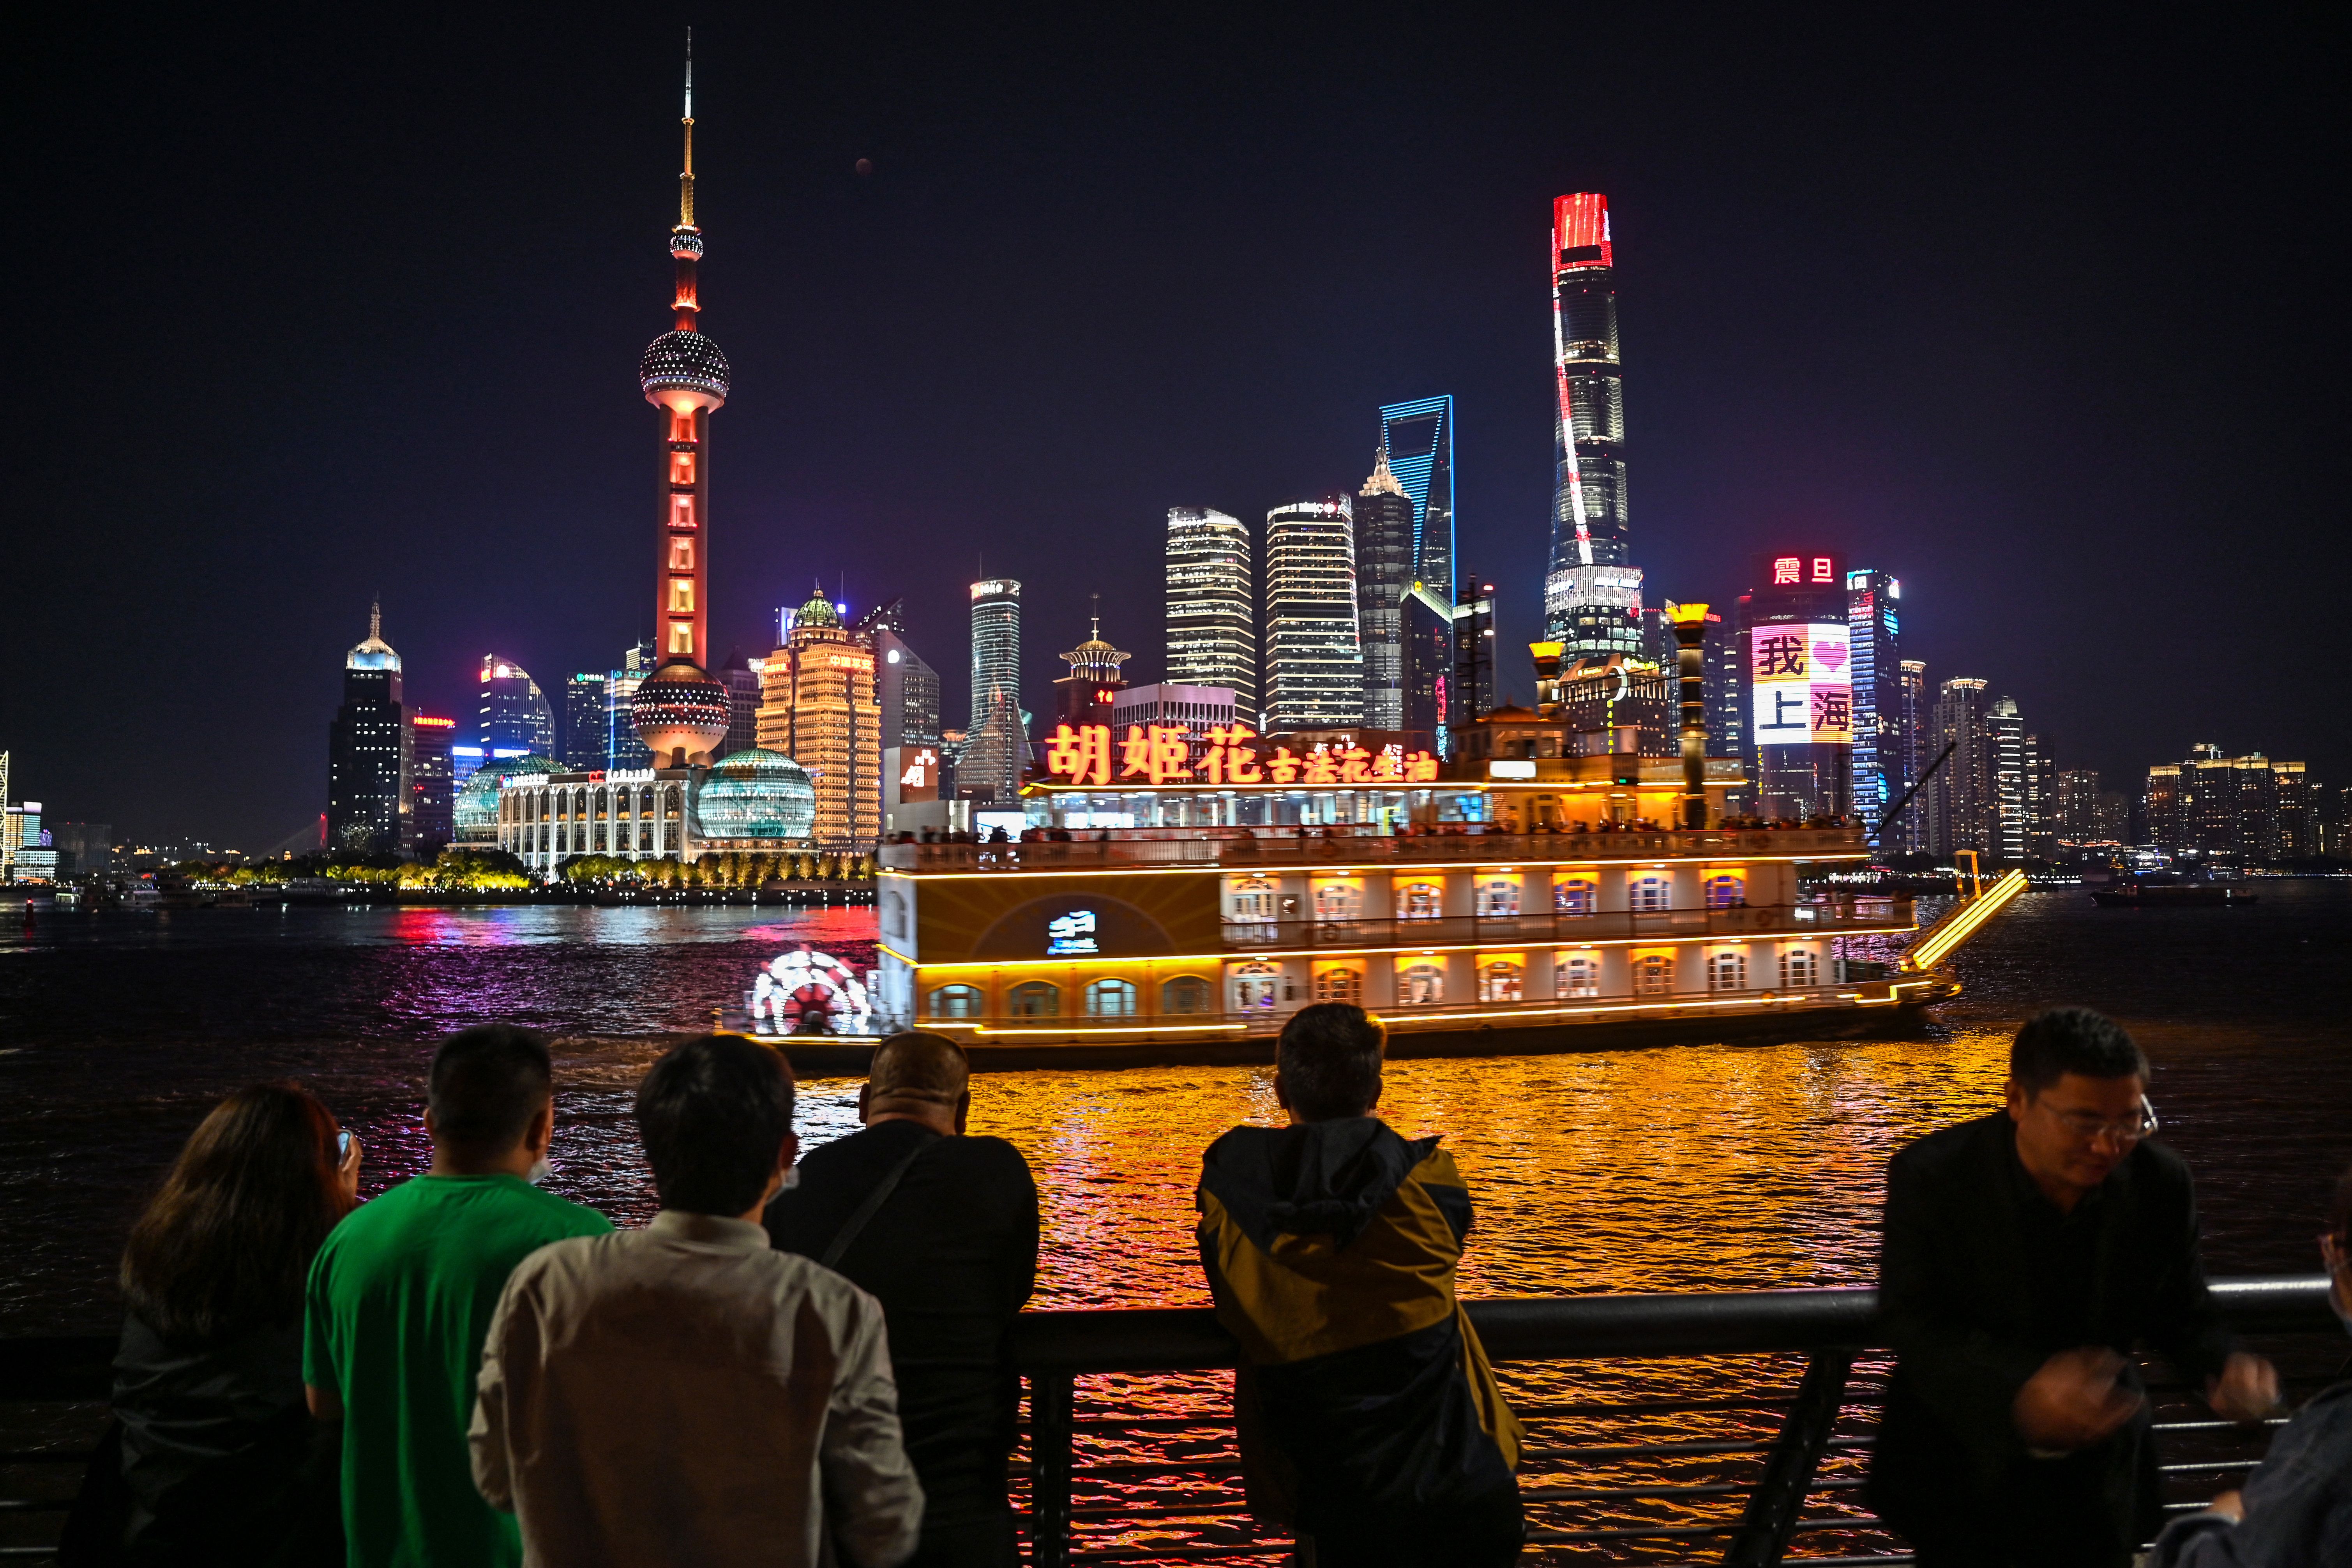
[{"label": "tallest twisting skyscraper with a glowing red top", "polygon": [[1625,395],[1618,369],[1609,197],[1552,202],[1552,555],[1543,637],[1578,658],[1639,651],[1642,569],[1625,508]]}]

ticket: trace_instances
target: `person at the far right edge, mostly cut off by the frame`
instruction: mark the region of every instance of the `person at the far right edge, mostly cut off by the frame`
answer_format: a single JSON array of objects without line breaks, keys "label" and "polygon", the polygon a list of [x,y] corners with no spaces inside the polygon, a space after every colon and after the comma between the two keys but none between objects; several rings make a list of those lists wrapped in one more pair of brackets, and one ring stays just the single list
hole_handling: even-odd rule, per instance
[{"label": "person at the far right edge, mostly cut off by the frame", "polygon": [[[2328,1305],[2352,1333],[2352,1171],[2319,1237]],[[2333,1568],[2352,1563],[2352,1380],[2312,1394],[2270,1439],[2246,1488],[2164,1526],[2147,1568]]]}]

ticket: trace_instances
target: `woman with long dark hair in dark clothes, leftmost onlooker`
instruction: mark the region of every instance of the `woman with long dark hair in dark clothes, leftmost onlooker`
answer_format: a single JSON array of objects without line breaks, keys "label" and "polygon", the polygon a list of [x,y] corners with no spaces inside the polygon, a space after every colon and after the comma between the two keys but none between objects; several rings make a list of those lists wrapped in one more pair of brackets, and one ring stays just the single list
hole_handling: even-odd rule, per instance
[{"label": "woman with long dark hair in dark clothes, leftmost onlooker", "polygon": [[118,1544],[115,1561],[193,1568],[322,1549],[303,1281],[358,1187],[358,1140],[296,1084],[240,1088],[195,1128],[122,1251],[122,1488],[101,1509],[118,1519],[92,1519],[75,1559]]}]

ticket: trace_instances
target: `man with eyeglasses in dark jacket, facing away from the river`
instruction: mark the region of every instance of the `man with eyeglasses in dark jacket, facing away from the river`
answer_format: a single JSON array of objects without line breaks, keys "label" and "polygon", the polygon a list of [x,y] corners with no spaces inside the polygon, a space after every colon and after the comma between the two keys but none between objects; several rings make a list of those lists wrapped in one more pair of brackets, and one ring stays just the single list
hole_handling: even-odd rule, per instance
[{"label": "man with eyeglasses in dark jacket, facing away from the river", "polygon": [[2220,1326],[2187,1166],[2114,1020],[2056,1009],[2009,1048],[2006,1110],[1886,1166],[1879,1312],[1896,1373],[1870,1500],[1919,1568],[2124,1568],[2164,1521],[2154,1345],[2225,1420],[2279,1403]]}]

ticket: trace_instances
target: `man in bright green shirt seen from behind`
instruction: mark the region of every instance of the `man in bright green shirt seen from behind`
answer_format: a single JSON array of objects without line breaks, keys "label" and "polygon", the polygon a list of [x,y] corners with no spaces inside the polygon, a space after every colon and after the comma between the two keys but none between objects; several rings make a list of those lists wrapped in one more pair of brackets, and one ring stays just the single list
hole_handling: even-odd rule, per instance
[{"label": "man in bright green shirt seen from behind", "polygon": [[515,1568],[515,1516],[473,1488],[482,1338],[517,1262],[612,1220],[532,1182],[555,1121],[543,1034],[480,1025],[433,1058],[433,1168],[355,1208],[310,1265],[303,1382],[343,1422],[350,1568]]}]

